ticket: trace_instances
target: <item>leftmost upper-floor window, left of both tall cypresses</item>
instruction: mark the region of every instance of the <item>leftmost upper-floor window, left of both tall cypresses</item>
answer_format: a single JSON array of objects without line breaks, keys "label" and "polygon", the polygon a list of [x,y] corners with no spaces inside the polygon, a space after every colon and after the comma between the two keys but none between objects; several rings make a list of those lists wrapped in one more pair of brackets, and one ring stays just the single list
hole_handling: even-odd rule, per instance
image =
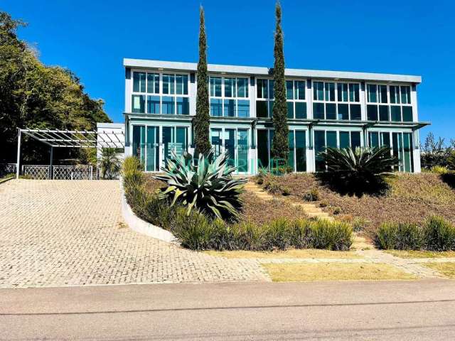
[{"label": "leftmost upper-floor window, left of both tall cypresses", "polygon": [[132,112],[188,115],[188,75],[134,71]]}]

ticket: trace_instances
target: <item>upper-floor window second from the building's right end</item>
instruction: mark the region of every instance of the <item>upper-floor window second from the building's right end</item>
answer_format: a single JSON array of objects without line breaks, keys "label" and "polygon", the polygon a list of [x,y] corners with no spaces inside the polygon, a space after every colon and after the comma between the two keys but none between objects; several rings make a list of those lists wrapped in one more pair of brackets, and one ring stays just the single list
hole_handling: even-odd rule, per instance
[{"label": "upper-floor window second from the building's right end", "polygon": [[359,83],[314,82],[314,119],[360,120]]}]

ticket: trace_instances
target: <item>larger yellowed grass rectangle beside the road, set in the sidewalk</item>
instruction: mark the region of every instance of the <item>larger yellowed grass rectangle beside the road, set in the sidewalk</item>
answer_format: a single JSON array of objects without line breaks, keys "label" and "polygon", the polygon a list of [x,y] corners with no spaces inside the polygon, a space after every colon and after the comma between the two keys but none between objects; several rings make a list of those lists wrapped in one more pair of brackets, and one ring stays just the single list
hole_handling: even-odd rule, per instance
[{"label": "larger yellowed grass rectangle beside the road, set in the sidewalk", "polygon": [[389,264],[263,264],[274,282],[416,279]]}]

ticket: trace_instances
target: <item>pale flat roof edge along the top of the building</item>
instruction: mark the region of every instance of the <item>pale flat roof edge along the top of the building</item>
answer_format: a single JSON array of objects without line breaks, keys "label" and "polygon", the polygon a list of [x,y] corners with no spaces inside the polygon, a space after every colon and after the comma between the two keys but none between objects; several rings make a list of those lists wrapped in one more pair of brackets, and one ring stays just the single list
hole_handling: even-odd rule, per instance
[{"label": "pale flat roof edge along the top of the building", "polygon": [[[164,60],[146,60],[124,58],[124,67],[144,67],[163,70],[184,70],[195,72],[197,63],[168,62]],[[269,75],[268,67],[257,66],[239,66],[239,65],[217,65],[208,64],[209,72],[226,72],[229,74],[246,74],[246,75]],[[372,80],[382,82],[410,82],[421,83],[422,77],[415,75],[392,75],[386,73],[373,72],[348,72],[348,71],[326,71],[326,70],[304,70],[304,69],[286,69],[285,74],[289,77],[306,77],[306,78],[339,78],[342,80]]]}]

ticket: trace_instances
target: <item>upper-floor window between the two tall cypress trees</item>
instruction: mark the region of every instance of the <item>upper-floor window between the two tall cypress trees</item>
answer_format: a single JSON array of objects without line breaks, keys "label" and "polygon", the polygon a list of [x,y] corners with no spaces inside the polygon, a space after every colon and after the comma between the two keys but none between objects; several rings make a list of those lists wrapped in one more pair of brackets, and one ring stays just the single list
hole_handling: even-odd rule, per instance
[{"label": "upper-floor window between the two tall cypress trees", "polygon": [[248,78],[210,76],[209,84],[210,116],[250,117]]}]

